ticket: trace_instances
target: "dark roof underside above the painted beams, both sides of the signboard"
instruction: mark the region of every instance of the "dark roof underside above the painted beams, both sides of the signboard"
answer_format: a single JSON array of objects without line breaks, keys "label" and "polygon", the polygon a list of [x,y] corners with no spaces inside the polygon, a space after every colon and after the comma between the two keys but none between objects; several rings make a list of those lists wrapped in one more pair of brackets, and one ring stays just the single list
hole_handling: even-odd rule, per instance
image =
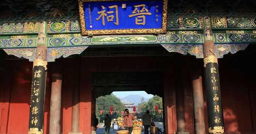
[{"label": "dark roof underside above the painted beams, both sides of the signboard", "polygon": [[[256,13],[256,0],[169,0],[169,13]],[[1,0],[3,17],[78,14],[78,0]],[[5,14],[5,15],[4,15]],[[8,14],[8,15],[7,15]]]}]

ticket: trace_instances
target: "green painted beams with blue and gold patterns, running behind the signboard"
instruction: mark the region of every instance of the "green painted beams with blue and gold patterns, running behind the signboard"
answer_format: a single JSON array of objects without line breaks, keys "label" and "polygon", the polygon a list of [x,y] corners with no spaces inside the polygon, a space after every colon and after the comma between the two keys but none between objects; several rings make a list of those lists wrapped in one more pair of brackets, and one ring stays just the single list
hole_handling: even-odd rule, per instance
[{"label": "green painted beams with blue and gold patterns, running behind the signboard", "polygon": [[[52,17],[56,19],[57,17]],[[215,43],[255,43],[256,17],[212,16],[210,24]],[[17,19],[19,20],[19,19]],[[4,22],[0,20],[0,48],[37,46],[39,21]],[[202,44],[202,16],[168,16],[168,32],[163,35],[106,35],[82,37],[77,16],[59,17],[45,23],[48,47],[118,44]]]}]

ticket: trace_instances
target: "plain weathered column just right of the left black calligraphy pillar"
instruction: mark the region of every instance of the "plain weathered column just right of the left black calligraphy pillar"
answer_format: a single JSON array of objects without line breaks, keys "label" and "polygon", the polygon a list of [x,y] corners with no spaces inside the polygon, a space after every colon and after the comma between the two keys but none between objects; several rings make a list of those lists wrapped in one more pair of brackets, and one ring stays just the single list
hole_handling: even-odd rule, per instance
[{"label": "plain weathered column just right of the left black calligraphy pillar", "polygon": [[50,134],[61,134],[62,65],[52,65],[52,91],[50,103]]}]

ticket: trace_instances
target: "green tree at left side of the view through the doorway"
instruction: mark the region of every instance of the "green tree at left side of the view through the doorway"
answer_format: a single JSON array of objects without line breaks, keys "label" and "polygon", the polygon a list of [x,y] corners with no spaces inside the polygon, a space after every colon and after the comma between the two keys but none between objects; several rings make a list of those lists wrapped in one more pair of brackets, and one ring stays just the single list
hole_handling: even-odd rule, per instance
[{"label": "green tree at left side of the view through the doorway", "polygon": [[[104,116],[108,113],[110,115],[110,112],[103,112],[102,115],[100,115],[100,110],[106,110],[110,111],[110,106],[113,106],[114,111],[123,111],[125,109],[124,104],[120,101],[119,98],[117,98],[115,95],[105,95],[100,96],[96,99],[96,117],[102,122],[104,120]],[[121,117],[120,113],[113,112],[113,115],[111,116],[112,119],[117,119],[117,117]]]}]

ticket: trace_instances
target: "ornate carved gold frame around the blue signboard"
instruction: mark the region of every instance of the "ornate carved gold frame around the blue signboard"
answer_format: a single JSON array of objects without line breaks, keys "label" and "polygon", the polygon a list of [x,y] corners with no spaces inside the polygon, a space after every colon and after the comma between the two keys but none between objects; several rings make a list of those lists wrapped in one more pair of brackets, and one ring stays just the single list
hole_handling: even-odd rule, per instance
[{"label": "ornate carved gold frame around the blue signboard", "polygon": [[[117,30],[86,30],[83,2],[101,2],[115,0],[78,0],[80,26],[82,35],[127,35],[127,34],[165,34],[167,30],[167,0],[163,0],[163,15],[161,29],[117,29]],[[119,0],[121,1],[121,0]]]}]

